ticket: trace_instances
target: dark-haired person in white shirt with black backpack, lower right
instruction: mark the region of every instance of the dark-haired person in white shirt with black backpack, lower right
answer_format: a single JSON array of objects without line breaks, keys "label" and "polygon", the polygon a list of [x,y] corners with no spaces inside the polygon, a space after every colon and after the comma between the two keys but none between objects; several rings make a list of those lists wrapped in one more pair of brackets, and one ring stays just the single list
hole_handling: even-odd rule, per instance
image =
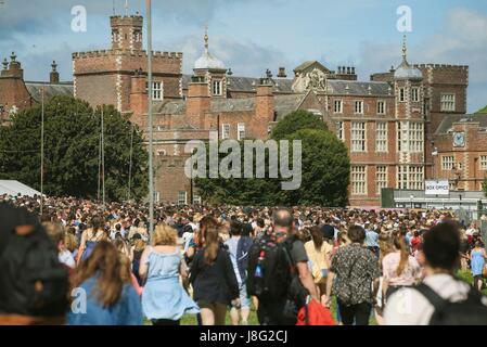
[{"label": "dark-haired person in white shirt with black backpack, lower right", "polygon": [[423,236],[426,277],[416,287],[405,287],[385,307],[387,325],[487,325],[487,299],[456,278],[460,232],[440,222]]}]

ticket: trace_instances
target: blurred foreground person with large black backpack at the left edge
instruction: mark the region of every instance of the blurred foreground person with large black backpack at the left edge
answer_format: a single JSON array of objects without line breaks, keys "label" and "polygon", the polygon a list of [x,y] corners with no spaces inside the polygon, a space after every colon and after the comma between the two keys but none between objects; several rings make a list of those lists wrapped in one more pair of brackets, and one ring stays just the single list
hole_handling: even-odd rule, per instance
[{"label": "blurred foreground person with large black backpack at the left edge", "polygon": [[1,203],[0,241],[0,325],[64,324],[68,271],[37,218]]}]

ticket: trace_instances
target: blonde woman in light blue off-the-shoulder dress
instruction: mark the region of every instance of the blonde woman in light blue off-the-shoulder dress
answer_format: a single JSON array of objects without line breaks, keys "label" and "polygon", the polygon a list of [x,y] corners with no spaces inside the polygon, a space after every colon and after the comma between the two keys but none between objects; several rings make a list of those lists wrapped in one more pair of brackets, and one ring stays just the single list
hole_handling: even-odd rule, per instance
[{"label": "blonde woman in light blue off-the-shoulder dress", "polygon": [[142,292],[142,310],[154,325],[179,325],[185,313],[200,312],[179,281],[188,269],[177,246],[178,234],[169,226],[158,226],[153,245],[144,249],[139,274],[146,279]]}]

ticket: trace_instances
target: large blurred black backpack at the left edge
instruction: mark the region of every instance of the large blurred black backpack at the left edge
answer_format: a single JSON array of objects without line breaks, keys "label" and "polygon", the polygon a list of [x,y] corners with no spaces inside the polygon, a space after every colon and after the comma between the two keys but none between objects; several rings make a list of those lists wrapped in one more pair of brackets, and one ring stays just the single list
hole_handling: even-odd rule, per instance
[{"label": "large blurred black backpack at the left edge", "polygon": [[7,211],[20,217],[15,226],[35,227],[27,235],[17,235],[14,227],[3,230],[9,236],[0,252],[0,312],[34,317],[65,314],[68,274],[59,261],[55,245],[39,223],[30,222],[33,217],[27,211]]}]

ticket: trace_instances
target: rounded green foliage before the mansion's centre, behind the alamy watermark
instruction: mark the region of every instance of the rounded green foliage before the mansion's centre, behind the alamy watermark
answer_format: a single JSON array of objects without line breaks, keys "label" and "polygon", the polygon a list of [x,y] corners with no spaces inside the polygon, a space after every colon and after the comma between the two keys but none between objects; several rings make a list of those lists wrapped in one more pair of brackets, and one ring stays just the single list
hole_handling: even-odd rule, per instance
[{"label": "rounded green foliage before the mansion's centre, behind the alamy watermark", "polygon": [[[323,120],[308,112],[294,112],[287,115],[272,131],[273,140],[302,141],[302,185],[298,190],[284,191],[281,182],[286,179],[268,178],[268,152],[266,151],[266,178],[245,179],[209,178],[209,159],[206,159],[207,178],[195,180],[198,194],[204,201],[215,204],[232,205],[321,205],[341,207],[348,204],[350,160],[346,146],[334,133],[328,130]],[[292,165],[292,142],[290,165]],[[243,162],[243,142],[241,167]],[[208,149],[206,151],[209,153]],[[227,154],[220,154],[220,160]],[[254,165],[255,163],[254,154]],[[259,165],[262,165],[259,163]]]}]

